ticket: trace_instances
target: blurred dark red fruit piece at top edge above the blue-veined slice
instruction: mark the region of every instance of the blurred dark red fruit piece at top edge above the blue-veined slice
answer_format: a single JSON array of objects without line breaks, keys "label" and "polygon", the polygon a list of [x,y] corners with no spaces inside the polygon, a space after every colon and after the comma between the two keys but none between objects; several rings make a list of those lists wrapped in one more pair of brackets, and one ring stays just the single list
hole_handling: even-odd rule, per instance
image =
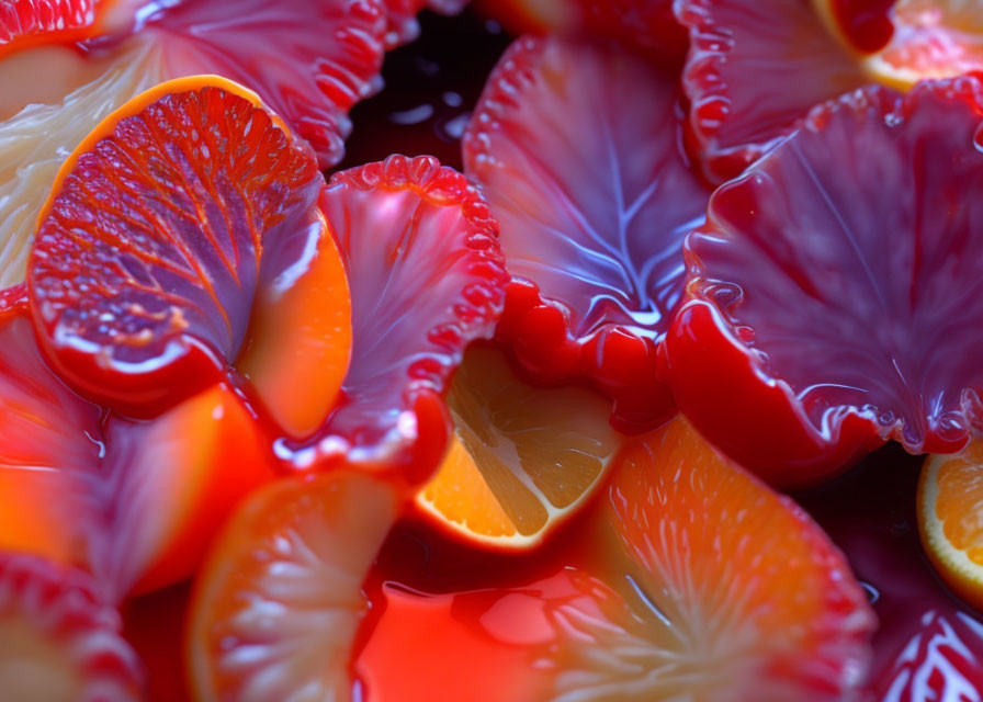
[{"label": "blurred dark red fruit piece at top edge above the blue-veined slice", "polygon": [[665,59],[686,56],[687,33],[671,0],[478,0],[481,12],[520,34],[607,37]]}]

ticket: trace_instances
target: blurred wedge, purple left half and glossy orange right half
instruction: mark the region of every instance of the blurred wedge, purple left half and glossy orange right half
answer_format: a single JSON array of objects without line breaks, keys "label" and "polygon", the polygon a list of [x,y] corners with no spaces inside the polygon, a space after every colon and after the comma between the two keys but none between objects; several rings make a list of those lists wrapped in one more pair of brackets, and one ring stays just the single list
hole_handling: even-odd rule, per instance
[{"label": "blurred wedge, purple left half and glossy orange right half", "polygon": [[276,477],[256,420],[225,385],[151,422],[110,420],[105,443],[112,517],[93,568],[120,597],[189,577],[239,502]]}]

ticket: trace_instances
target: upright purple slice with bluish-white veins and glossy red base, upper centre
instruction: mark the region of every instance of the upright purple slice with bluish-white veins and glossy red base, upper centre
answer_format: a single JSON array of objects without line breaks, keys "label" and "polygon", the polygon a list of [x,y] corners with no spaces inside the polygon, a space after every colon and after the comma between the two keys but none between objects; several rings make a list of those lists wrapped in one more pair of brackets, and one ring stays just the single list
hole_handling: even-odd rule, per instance
[{"label": "upright purple slice with bluish-white veins and glossy red base, upper centre", "polygon": [[676,100],[670,78],[614,46],[526,37],[463,141],[517,279],[498,337],[544,381],[587,378],[632,429],[673,411],[656,347],[709,199],[678,149]]}]

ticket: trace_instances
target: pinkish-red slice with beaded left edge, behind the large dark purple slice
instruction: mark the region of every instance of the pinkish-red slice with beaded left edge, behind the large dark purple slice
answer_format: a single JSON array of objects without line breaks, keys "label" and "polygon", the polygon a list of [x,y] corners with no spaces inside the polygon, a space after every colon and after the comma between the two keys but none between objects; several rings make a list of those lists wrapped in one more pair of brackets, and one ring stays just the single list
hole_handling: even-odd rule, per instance
[{"label": "pinkish-red slice with beaded left edge, behind the large dark purple slice", "polygon": [[680,0],[690,53],[688,137],[721,183],[790,134],[813,105],[869,81],[803,0]]}]

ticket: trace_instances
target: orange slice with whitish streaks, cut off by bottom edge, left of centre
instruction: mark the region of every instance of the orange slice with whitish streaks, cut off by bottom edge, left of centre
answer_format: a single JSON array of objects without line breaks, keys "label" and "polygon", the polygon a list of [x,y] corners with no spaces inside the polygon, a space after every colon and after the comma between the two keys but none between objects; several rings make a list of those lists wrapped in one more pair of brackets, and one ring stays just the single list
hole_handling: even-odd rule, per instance
[{"label": "orange slice with whitish streaks, cut off by bottom edge, left of centre", "polygon": [[389,483],[346,469],[250,497],[197,576],[187,648],[195,699],[350,699],[362,580],[396,508]]}]

